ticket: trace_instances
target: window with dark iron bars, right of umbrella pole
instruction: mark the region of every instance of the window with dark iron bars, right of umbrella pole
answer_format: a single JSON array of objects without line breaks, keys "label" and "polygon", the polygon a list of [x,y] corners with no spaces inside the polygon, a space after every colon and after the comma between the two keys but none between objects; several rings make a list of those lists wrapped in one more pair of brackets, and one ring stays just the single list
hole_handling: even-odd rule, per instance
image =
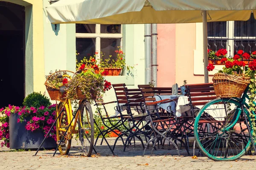
[{"label": "window with dark iron bars, right of umbrella pole", "polygon": [[256,51],[256,20],[209,22],[208,48],[217,51],[227,48],[228,56],[234,56],[239,50],[247,53]]}]

